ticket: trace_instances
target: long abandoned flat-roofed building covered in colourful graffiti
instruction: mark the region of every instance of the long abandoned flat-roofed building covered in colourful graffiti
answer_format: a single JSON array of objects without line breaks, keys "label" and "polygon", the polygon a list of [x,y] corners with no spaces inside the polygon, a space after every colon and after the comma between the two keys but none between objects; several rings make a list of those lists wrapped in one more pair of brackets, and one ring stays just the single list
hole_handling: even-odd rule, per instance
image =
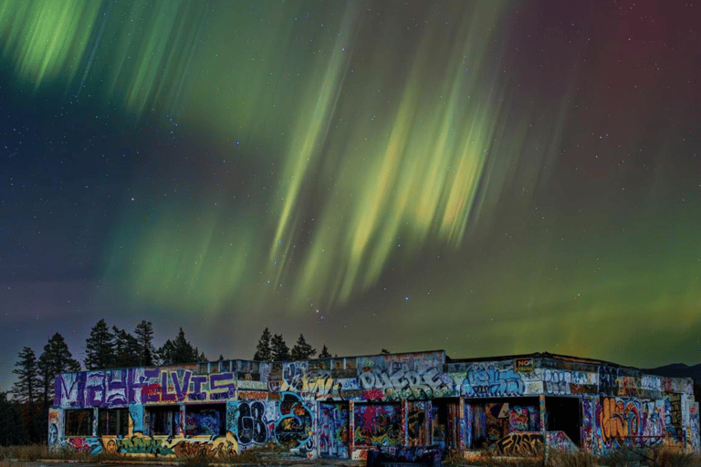
[{"label": "long abandoned flat-roofed building covered in colourful graffiti", "polygon": [[673,442],[699,452],[691,379],[546,353],[446,358],[444,350],[293,362],[224,360],[59,375],[52,449],[182,456],[269,442],[305,458],[378,446],[469,456],[595,454]]}]

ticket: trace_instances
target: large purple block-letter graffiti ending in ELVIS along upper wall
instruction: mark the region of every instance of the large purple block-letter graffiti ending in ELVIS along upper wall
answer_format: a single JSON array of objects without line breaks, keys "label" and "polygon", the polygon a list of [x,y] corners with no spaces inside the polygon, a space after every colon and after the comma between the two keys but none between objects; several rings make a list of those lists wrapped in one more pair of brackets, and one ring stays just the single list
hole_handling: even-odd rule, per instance
[{"label": "large purple block-letter graffiti ending in ELVIS along upper wall", "polygon": [[195,375],[190,369],[125,368],[59,375],[54,405],[118,407],[133,403],[234,399],[234,373]]}]

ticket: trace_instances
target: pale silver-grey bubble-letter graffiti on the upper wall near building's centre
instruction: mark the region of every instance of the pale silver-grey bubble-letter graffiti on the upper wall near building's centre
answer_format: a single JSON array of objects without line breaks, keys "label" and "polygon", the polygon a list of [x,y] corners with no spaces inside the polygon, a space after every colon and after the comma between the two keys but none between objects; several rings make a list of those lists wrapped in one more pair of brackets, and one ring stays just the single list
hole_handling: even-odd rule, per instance
[{"label": "pale silver-grey bubble-letter graffiti on the upper wall near building's centre", "polygon": [[359,379],[362,389],[382,389],[384,397],[391,400],[437,398],[455,393],[453,378],[447,373],[440,373],[436,368],[423,372],[404,369],[393,373],[386,370],[365,371]]}]

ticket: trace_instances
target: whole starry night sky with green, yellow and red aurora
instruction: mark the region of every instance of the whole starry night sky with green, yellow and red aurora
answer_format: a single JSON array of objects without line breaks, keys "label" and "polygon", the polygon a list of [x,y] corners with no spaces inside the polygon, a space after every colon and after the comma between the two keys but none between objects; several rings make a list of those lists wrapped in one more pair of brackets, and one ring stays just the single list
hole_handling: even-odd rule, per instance
[{"label": "whole starry night sky with green, yellow and red aurora", "polygon": [[[701,5],[0,5],[0,350],[100,318],[698,363]],[[11,378],[0,379],[7,389]]]}]

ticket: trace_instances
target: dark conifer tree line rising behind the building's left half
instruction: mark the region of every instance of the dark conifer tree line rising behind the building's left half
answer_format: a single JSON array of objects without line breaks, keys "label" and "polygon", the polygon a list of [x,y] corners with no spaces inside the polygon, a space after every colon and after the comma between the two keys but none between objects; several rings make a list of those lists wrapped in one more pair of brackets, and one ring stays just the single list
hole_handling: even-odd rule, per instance
[{"label": "dark conifer tree line rising behind the building's left half", "polygon": [[[255,360],[303,360],[317,355],[301,334],[297,343],[288,348],[280,334],[271,335],[266,327],[256,347]],[[324,346],[319,358],[330,358]],[[219,359],[224,359],[220,356]],[[107,368],[151,367],[205,362],[204,352],[194,347],[181,327],[177,336],[168,339],[161,348],[153,346],[153,326],[141,321],[130,333],[108,326],[100,319],[90,329],[85,341],[83,367],[89,370]],[[48,408],[54,400],[54,380],[60,373],[80,371],[80,362],[73,358],[63,336],[54,334],[41,354],[24,347],[17,354],[16,381],[10,391],[0,391],[0,445],[46,443]]]}]

